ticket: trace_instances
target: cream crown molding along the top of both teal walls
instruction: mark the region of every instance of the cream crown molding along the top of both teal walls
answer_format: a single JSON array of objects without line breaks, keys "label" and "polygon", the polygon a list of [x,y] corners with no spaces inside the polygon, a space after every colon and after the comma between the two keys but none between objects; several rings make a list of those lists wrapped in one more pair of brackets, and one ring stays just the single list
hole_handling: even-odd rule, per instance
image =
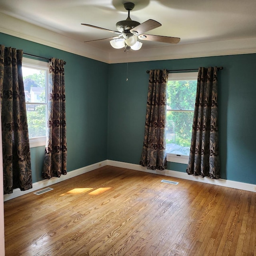
[{"label": "cream crown molding along the top of both teal walls", "polygon": [[256,38],[246,38],[142,48],[129,51],[127,60],[122,49],[106,52],[3,13],[0,15],[0,32],[108,64],[256,53]]}]

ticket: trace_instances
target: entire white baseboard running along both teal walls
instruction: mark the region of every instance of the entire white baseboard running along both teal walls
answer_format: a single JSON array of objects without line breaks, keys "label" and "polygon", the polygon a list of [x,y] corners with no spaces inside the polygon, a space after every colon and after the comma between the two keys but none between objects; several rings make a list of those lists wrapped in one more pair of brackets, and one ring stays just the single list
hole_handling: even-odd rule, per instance
[{"label": "entire white baseboard running along both teal walls", "polygon": [[214,180],[214,179],[210,179],[207,177],[202,178],[201,176],[188,175],[186,172],[177,172],[177,171],[172,171],[172,170],[163,170],[163,171],[148,170],[146,167],[143,167],[139,164],[130,164],[130,163],[125,163],[125,162],[113,161],[113,160],[104,160],[102,162],[98,162],[95,164],[91,164],[91,165],[70,171],[66,175],[60,176],[60,178],[54,177],[54,178],[51,178],[50,180],[41,180],[41,181],[35,182],[35,183],[33,183],[33,188],[26,190],[26,191],[20,191],[19,188],[15,188],[13,190],[12,194],[4,195],[4,201],[16,198],[18,196],[28,194],[30,192],[34,192],[36,190],[40,190],[42,188],[51,186],[52,184],[62,182],[64,180],[68,180],[75,176],[84,174],[86,172],[90,172],[92,170],[96,170],[99,167],[106,166],[106,165],[136,170],[136,171],[140,171],[140,172],[161,174],[161,175],[165,175],[165,176],[170,176],[170,177],[175,177],[175,178],[180,178],[180,179],[185,179],[185,180],[198,181],[198,182],[203,182],[203,183],[208,183],[208,184],[214,184],[214,185],[224,186],[224,187],[228,187],[228,188],[237,188],[237,189],[256,192],[256,184],[249,184],[249,183],[238,182],[238,181],[233,181],[233,180],[224,180],[224,179]]}]

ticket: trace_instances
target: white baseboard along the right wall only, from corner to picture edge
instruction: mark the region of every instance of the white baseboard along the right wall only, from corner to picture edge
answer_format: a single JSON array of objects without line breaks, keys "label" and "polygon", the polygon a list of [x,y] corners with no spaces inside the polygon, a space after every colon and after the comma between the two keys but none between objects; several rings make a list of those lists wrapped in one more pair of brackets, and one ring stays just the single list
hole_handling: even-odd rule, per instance
[{"label": "white baseboard along the right wall only, from corner to picture edge", "polygon": [[118,161],[112,161],[112,160],[107,160],[107,165],[137,170],[137,171],[141,171],[141,172],[150,172],[150,173],[154,173],[154,174],[161,174],[161,175],[175,177],[175,178],[181,178],[181,179],[185,179],[185,180],[192,180],[192,181],[198,181],[198,182],[203,182],[203,183],[208,183],[208,184],[214,184],[214,185],[224,186],[224,187],[228,187],[228,188],[237,188],[237,189],[256,192],[256,184],[249,184],[249,183],[238,182],[238,181],[233,181],[233,180],[224,180],[224,179],[215,180],[215,179],[210,179],[208,177],[202,178],[201,176],[188,175],[186,172],[177,172],[177,171],[172,171],[172,170],[163,170],[163,171],[148,170],[146,167],[143,167],[139,164],[130,164],[130,163],[118,162]]}]

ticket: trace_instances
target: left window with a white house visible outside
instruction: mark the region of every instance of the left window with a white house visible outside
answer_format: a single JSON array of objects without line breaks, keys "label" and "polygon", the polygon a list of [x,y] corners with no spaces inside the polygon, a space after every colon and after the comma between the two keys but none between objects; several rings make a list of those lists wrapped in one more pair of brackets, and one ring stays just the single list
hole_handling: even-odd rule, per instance
[{"label": "left window with a white house visible outside", "polygon": [[48,62],[23,58],[22,74],[31,148],[46,144],[48,69]]}]

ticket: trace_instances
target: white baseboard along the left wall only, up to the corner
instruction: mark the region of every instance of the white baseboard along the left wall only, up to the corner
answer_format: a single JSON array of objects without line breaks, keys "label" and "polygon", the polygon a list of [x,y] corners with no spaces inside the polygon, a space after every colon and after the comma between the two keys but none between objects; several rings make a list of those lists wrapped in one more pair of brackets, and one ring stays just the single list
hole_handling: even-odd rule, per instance
[{"label": "white baseboard along the left wall only, up to the corner", "polygon": [[19,188],[15,188],[13,190],[12,194],[4,195],[4,201],[16,198],[18,196],[28,194],[30,192],[34,192],[36,190],[51,186],[52,184],[55,184],[55,183],[58,183],[58,182],[61,182],[64,180],[68,180],[68,179],[78,176],[80,174],[90,172],[92,170],[98,169],[99,167],[106,166],[106,165],[107,165],[107,160],[104,160],[104,161],[98,162],[96,164],[91,164],[91,165],[70,171],[66,175],[60,176],[60,178],[54,177],[54,178],[51,178],[50,180],[40,180],[38,182],[33,183],[33,188],[26,190],[26,191],[20,191]]}]

